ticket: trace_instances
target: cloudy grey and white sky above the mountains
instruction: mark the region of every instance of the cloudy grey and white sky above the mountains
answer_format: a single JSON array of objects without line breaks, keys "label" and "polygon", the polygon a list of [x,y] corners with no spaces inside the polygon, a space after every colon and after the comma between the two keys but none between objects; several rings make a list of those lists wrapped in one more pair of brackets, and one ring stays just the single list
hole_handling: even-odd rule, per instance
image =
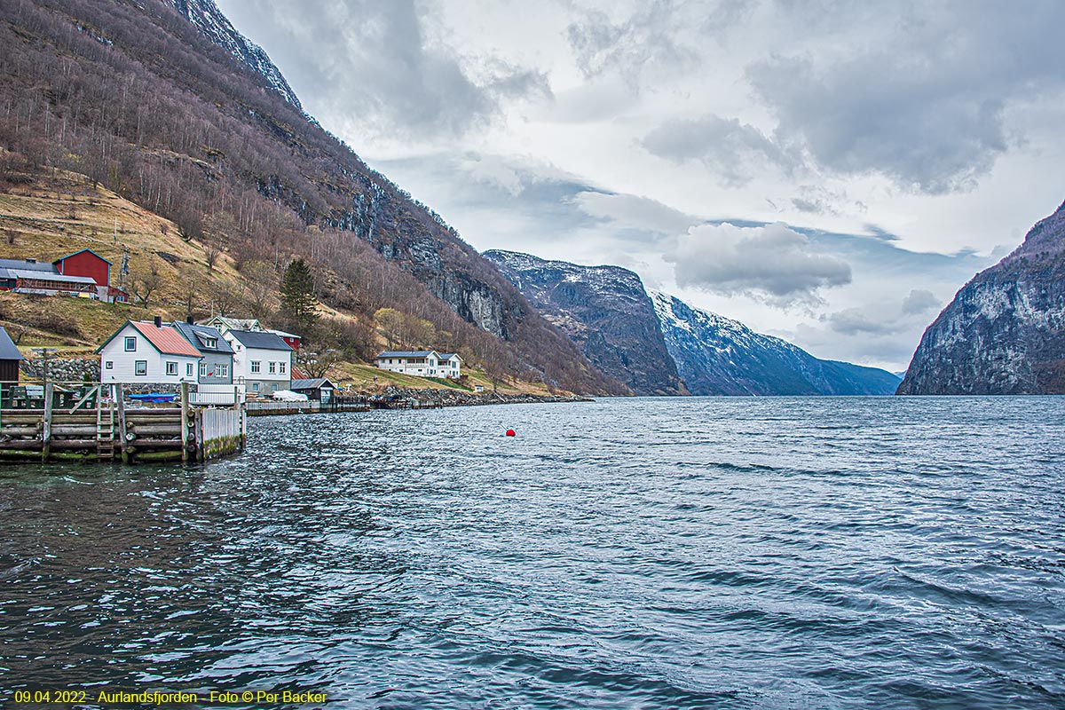
[{"label": "cloudy grey and white sky above the mountains", "polygon": [[217,0],[478,250],[898,371],[1065,199],[1065,3]]}]

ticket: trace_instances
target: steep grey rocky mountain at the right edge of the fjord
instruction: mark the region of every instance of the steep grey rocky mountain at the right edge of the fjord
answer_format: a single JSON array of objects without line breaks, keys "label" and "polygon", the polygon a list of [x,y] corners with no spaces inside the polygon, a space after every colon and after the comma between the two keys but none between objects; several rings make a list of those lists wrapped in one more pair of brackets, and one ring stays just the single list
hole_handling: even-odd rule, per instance
[{"label": "steep grey rocky mountain at the right edge of the fjord", "polygon": [[1065,203],[957,292],[899,394],[1065,394]]}]

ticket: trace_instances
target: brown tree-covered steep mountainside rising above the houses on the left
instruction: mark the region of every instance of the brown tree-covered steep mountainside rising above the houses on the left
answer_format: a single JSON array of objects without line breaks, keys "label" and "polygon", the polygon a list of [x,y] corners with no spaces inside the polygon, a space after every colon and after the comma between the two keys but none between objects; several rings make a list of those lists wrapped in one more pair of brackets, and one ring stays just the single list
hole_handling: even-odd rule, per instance
[{"label": "brown tree-covered steep mountainside rising above the houses on the left", "polygon": [[437,345],[506,374],[617,389],[439,215],[305,116],[210,0],[0,0],[0,183],[84,174],[241,269],[307,258],[330,306],[429,320]]}]

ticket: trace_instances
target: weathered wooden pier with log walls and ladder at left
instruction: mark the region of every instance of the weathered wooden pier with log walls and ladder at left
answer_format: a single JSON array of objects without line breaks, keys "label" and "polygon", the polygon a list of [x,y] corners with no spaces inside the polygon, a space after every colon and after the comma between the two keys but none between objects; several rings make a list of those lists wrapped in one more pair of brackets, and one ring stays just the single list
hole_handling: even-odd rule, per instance
[{"label": "weathered wooden pier with log walls and ladder at left", "polygon": [[[30,396],[32,389],[40,397]],[[244,450],[246,412],[190,403],[131,407],[121,384],[0,384],[0,460],[207,461]]]}]

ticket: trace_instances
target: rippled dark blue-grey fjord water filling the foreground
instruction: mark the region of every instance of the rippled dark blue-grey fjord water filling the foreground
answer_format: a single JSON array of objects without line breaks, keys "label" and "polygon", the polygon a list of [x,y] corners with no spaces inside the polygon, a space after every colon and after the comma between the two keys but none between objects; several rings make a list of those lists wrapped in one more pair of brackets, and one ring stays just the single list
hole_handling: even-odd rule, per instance
[{"label": "rippled dark blue-grey fjord water filling the foreground", "polygon": [[1065,707],[1063,434],[1062,398],[603,399],[0,469],[4,700]]}]

